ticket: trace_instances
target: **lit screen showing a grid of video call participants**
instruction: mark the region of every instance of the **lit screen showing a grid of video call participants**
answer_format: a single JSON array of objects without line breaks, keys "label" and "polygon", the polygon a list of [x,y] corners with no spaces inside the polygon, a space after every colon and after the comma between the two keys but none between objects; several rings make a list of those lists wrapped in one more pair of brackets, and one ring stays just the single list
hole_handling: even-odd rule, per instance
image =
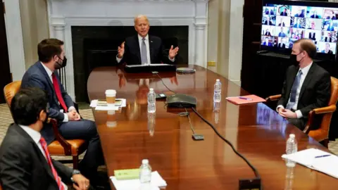
[{"label": "lit screen showing a grid of video call participants", "polygon": [[297,39],[312,39],[320,53],[336,53],[338,8],[266,4],[261,45],[292,49]]}]

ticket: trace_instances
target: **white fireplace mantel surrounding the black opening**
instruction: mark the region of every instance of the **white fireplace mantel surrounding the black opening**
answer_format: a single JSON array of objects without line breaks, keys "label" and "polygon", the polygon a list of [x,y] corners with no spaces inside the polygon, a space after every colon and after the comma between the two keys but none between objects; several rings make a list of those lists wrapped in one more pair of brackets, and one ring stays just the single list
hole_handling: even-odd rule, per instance
[{"label": "white fireplace mantel surrounding the black opening", "polygon": [[74,100],[72,26],[132,26],[139,14],[150,25],[186,25],[189,63],[206,68],[208,0],[48,0],[47,6],[50,37],[65,42],[66,87]]}]

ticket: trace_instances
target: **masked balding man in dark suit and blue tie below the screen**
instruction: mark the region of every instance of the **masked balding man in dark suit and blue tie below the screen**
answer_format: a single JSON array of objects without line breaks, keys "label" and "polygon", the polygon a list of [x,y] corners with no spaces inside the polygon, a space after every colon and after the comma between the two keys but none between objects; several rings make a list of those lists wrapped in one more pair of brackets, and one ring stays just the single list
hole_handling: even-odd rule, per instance
[{"label": "masked balding man in dark suit and blue tie below the screen", "polygon": [[[317,49],[311,39],[294,42],[287,69],[282,97],[277,103],[277,112],[290,123],[303,130],[308,113],[314,108],[327,106],[330,99],[330,74],[313,63]],[[321,118],[315,119],[313,127],[319,127]]]}]

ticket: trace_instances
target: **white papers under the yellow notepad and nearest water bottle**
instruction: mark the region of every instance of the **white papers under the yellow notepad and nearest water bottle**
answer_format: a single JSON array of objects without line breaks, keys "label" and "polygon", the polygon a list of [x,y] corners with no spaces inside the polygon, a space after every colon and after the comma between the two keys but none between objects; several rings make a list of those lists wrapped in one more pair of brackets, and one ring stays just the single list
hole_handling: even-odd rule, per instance
[{"label": "white papers under the yellow notepad and nearest water bottle", "polygon": [[[110,178],[116,190],[139,190],[143,189],[144,186],[143,184],[141,184],[141,182],[139,182],[139,179],[118,180],[114,176],[111,176]],[[151,172],[151,183],[148,185],[149,186],[146,189],[159,190],[160,186],[167,186],[167,183],[161,177],[161,175],[157,171],[155,171]]]}]

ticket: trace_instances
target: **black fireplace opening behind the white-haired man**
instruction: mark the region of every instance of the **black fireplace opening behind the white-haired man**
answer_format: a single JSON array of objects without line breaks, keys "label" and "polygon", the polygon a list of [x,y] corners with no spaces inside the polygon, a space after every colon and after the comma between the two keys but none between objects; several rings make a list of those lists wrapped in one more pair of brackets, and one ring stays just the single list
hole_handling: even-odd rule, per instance
[{"label": "black fireplace opening behind the white-haired man", "polygon": [[[94,68],[114,66],[118,46],[126,37],[136,35],[134,26],[72,26],[75,96],[89,102],[87,80]],[[179,46],[178,64],[189,63],[189,26],[151,26],[150,35],[160,37],[165,51]]]}]

